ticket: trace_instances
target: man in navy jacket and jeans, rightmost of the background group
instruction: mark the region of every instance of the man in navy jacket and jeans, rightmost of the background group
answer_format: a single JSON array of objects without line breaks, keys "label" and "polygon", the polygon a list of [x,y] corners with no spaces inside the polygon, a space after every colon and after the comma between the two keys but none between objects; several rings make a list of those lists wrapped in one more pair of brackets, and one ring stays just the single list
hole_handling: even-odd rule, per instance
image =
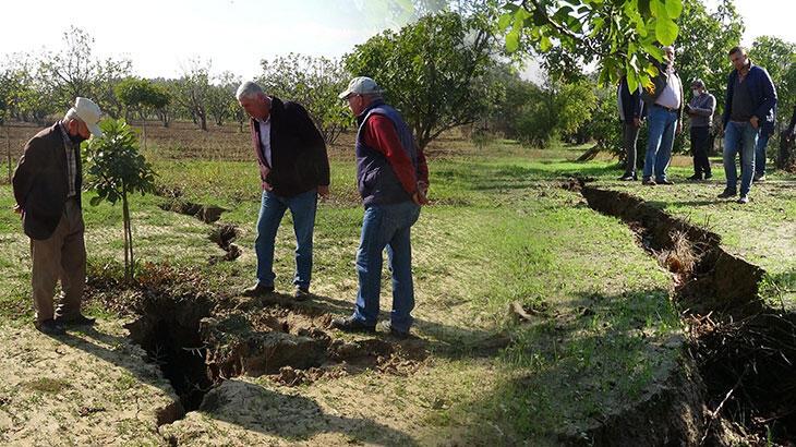
[{"label": "man in navy jacket and jeans, rightmost of the background group", "polygon": [[729,50],[733,70],[727,76],[724,98],[724,173],[727,184],[719,195],[728,198],[737,195],[738,173],[735,155],[740,153],[740,197],[738,203],[749,202],[755,174],[755,149],[761,132],[771,133],[776,110],[776,89],[771,76],[761,67],[751,63],[746,50]]}]

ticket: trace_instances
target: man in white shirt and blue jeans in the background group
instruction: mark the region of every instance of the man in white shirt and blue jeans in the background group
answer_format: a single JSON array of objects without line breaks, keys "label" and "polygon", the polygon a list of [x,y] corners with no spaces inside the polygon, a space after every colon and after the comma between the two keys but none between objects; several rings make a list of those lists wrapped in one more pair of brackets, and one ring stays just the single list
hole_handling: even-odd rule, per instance
[{"label": "man in white shirt and blue jeans in the background group", "polygon": [[674,47],[664,47],[663,51],[666,63],[659,67],[659,82],[655,83],[661,89],[648,114],[650,128],[642,178],[647,185],[674,184],[666,177],[666,168],[672,160],[675,133],[683,126],[683,83],[674,69]]}]

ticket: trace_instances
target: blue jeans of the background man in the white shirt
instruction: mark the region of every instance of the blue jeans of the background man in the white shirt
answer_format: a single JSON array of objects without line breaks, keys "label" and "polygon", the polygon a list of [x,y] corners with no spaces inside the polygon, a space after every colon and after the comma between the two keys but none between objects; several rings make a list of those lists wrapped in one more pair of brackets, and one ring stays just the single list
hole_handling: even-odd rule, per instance
[{"label": "blue jeans of the background man in the white shirt", "polygon": [[652,106],[648,120],[650,132],[647,140],[643,178],[649,179],[654,171],[655,180],[663,181],[666,179],[666,168],[672,160],[672,146],[677,130],[677,112]]}]

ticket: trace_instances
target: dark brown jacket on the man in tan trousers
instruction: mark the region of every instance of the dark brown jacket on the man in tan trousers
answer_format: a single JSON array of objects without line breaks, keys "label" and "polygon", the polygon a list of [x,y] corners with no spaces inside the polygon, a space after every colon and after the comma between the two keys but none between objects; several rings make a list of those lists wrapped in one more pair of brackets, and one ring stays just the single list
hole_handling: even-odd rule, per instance
[{"label": "dark brown jacket on the man in tan trousers", "polygon": [[[56,231],[63,215],[69,181],[67,150],[60,124],[43,130],[25,145],[25,152],[14,170],[13,186],[16,204],[23,209],[22,228],[31,239],[45,240]],[[76,200],[80,204],[83,174],[80,147],[75,147],[77,173]]]}]

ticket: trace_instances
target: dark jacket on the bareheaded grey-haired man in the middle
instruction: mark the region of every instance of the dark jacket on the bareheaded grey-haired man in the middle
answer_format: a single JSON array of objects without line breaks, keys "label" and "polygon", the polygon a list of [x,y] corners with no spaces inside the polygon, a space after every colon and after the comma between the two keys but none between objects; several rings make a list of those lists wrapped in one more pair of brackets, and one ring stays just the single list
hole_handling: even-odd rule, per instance
[{"label": "dark jacket on the bareheaded grey-haired man in the middle", "polygon": [[[292,197],[329,184],[326,142],[306,110],[298,102],[270,97],[270,160],[268,166],[260,142],[260,125],[251,120],[252,143],[261,168],[261,180],[274,194]],[[267,167],[267,169],[263,169]],[[267,173],[263,176],[264,172]]]}]

